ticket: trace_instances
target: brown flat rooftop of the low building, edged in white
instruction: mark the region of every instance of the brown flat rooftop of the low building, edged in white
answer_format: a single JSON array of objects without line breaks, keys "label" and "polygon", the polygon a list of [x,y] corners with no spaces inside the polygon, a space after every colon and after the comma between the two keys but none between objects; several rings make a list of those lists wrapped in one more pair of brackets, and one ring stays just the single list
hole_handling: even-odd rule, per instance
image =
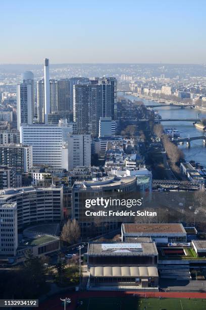
[{"label": "brown flat rooftop of the low building, edged in white", "polygon": [[122,224],[124,234],[185,234],[186,231],[182,224]]}]

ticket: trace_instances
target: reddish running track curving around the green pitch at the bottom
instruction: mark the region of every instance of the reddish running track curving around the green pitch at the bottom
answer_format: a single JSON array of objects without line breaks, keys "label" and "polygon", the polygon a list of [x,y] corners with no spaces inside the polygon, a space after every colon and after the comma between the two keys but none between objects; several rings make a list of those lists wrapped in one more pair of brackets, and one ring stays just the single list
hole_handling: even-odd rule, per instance
[{"label": "reddish running track curving around the green pitch at the bottom", "polygon": [[[124,296],[133,296],[134,292],[116,292],[116,291],[82,291],[82,292],[71,292],[68,294],[62,294],[55,297],[51,297],[49,300],[44,301],[39,305],[39,310],[62,310],[63,306],[61,305],[60,297],[69,297],[72,300],[72,303],[68,307],[70,310],[75,310],[76,302],[81,298],[91,298],[91,297],[124,297]],[[206,298],[206,293],[192,293],[192,292],[135,292],[135,296],[139,297],[165,297],[165,298]]]}]

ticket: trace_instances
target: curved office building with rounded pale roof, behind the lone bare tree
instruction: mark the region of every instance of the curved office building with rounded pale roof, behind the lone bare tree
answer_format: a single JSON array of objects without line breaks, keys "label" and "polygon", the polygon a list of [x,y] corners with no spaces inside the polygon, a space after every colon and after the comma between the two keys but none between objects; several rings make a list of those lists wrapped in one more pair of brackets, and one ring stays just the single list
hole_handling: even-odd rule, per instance
[{"label": "curved office building with rounded pale roof, behind the lone bare tree", "polygon": [[[117,217],[111,218],[110,216],[98,217],[98,220],[92,218],[92,216],[85,216],[85,199],[93,199],[94,197],[114,197],[115,199],[123,197],[126,199],[126,197],[131,198],[135,190],[135,177],[110,175],[98,179],[94,178],[91,181],[76,181],[72,187],[72,218],[78,220],[82,236],[98,236],[112,229],[117,229],[120,220]],[[121,205],[114,205],[110,210],[120,211]],[[97,211],[96,207],[95,211]]]}]

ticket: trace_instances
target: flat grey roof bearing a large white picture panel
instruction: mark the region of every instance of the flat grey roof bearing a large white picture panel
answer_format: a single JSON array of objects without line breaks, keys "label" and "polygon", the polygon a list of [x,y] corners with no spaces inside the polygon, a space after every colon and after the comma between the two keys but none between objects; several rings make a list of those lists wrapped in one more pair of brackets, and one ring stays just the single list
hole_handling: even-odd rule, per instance
[{"label": "flat grey roof bearing a large white picture panel", "polygon": [[150,243],[99,243],[93,242],[88,245],[88,255],[90,256],[142,256],[158,255],[154,242]]}]

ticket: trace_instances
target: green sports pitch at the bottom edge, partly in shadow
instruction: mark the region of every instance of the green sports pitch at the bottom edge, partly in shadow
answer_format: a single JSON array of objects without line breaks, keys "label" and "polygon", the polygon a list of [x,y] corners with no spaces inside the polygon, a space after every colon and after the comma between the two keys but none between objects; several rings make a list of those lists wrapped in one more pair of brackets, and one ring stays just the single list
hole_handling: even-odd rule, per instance
[{"label": "green sports pitch at the bottom edge, partly in shadow", "polygon": [[88,298],[80,299],[82,305],[79,310],[205,310],[206,299],[178,299],[178,298]]}]

